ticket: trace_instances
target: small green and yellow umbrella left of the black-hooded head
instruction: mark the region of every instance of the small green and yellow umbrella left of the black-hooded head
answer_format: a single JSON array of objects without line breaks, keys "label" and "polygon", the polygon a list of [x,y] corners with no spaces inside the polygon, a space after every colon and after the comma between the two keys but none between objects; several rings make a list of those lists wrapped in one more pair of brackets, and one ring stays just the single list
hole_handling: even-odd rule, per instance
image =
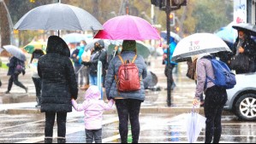
[{"label": "small green and yellow umbrella left of the black-hooded head", "polygon": [[27,53],[32,54],[35,49],[46,50],[47,43],[45,42],[31,42],[28,43],[23,49],[27,51]]}]

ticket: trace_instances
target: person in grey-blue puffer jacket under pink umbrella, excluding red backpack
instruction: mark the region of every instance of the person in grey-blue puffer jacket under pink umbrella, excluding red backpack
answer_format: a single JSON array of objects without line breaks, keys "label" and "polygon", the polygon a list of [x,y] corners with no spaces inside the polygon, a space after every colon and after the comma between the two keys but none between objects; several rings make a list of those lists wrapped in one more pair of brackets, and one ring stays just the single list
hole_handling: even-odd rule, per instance
[{"label": "person in grey-blue puffer jacket under pink umbrella, excluding red backpack", "polygon": [[[136,41],[124,40],[120,56],[123,60],[133,60],[137,56],[134,60],[134,64],[139,69],[140,78],[146,78],[146,63],[141,55],[136,54]],[[141,102],[145,101],[144,84],[140,81],[140,90],[127,92],[118,91],[118,80],[116,76],[118,75],[120,66],[122,66],[122,61],[118,56],[111,60],[106,76],[106,95],[109,100],[114,99],[116,101],[122,143],[128,143],[128,119],[132,125],[133,143],[138,143],[140,137],[140,105]]]}]

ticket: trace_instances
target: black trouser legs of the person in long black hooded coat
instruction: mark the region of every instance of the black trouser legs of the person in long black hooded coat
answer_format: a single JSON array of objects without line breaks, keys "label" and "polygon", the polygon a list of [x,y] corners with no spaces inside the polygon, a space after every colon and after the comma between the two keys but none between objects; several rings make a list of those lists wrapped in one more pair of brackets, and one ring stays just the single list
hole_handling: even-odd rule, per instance
[{"label": "black trouser legs of the person in long black hooded coat", "polygon": [[66,137],[67,112],[45,112],[45,137],[52,137],[57,115],[57,136]]}]

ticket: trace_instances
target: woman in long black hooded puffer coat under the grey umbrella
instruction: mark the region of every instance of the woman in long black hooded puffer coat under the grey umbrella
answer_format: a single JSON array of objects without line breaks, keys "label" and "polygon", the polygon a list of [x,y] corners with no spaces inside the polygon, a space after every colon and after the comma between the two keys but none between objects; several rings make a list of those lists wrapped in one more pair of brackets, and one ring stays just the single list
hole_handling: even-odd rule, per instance
[{"label": "woman in long black hooded puffer coat under the grey umbrella", "polygon": [[71,99],[77,99],[78,89],[70,51],[62,38],[48,39],[47,55],[39,59],[38,72],[42,78],[41,112],[45,112],[45,143],[52,142],[53,125],[57,115],[58,143],[66,141],[67,112],[72,112]]}]

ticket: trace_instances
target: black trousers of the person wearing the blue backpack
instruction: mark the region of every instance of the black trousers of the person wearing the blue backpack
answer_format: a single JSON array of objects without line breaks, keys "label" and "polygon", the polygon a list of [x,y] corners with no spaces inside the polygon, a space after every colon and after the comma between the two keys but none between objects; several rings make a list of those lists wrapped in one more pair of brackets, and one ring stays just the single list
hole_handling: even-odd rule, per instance
[{"label": "black trousers of the person wearing the blue backpack", "polygon": [[228,100],[226,89],[217,86],[207,89],[205,92],[205,143],[219,143],[222,135],[222,112]]}]

